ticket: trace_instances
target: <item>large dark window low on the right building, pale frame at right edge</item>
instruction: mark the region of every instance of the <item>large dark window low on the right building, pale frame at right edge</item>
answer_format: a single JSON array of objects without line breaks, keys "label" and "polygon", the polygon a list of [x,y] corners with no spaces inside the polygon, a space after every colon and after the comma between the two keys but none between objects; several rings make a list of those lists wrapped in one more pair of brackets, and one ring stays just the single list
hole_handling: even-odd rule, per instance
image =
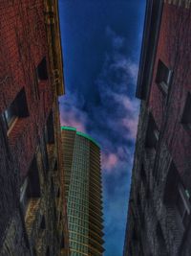
[{"label": "large dark window low on the right building, pale frame at right edge", "polygon": [[190,190],[185,188],[174,163],[171,163],[166,180],[164,203],[176,209],[175,213],[178,213],[180,221],[185,228],[190,221],[190,196]]}]

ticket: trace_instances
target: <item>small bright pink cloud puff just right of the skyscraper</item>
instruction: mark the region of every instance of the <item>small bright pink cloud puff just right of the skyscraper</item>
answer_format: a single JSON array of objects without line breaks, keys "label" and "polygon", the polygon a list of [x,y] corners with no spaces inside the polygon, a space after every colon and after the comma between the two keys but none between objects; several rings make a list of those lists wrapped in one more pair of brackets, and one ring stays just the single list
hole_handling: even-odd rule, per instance
[{"label": "small bright pink cloud puff just right of the skyscraper", "polygon": [[107,170],[107,172],[111,172],[118,163],[118,157],[115,153],[102,153],[101,155],[101,166],[102,169]]}]

